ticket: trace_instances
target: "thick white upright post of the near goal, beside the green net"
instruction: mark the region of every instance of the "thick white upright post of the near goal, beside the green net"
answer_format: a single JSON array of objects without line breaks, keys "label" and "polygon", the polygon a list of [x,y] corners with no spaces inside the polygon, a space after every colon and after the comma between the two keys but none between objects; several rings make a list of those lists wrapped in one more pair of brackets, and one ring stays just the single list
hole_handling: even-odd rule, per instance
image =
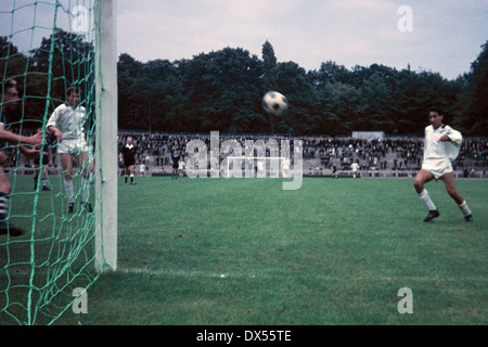
[{"label": "thick white upright post of the near goal, beside the green net", "polygon": [[117,43],[116,1],[95,5],[95,268],[117,269]]}]

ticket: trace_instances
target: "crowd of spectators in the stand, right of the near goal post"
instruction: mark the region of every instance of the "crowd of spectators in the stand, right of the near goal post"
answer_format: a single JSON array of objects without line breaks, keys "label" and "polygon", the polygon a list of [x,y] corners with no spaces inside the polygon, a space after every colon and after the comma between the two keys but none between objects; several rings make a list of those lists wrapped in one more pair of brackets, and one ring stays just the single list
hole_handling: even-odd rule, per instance
[{"label": "crowd of spectators in the stand, right of the near goal post", "polygon": [[[210,149],[210,134],[195,133],[147,133],[138,131],[120,131],[119,146],[126,143],[127,137],[133,139],[138,147],[140,162],[164,167],[169,165],[174,150],[184,155],[187,144],[194,139],[205,142]],[[246,140],[264,140],[267,143],[274,139],[299,139],[303,141],[304,163],[319,163],[321,168],[330,169],[334,163],[339,169],[348,170],[357,162],[361,170],[418,170],[422,165],[423,138],[386,137],[383,139],[357,139],[350,137],[286,137],[269,134],[220,134],[219,143],[235,140],[242,147]],[[268,151],[269,155],[269,151]],[[454,162],[454,168],[460,170],[485,169],[488,166],[488,140],[484,138],[466,138],[460,155]]]}]

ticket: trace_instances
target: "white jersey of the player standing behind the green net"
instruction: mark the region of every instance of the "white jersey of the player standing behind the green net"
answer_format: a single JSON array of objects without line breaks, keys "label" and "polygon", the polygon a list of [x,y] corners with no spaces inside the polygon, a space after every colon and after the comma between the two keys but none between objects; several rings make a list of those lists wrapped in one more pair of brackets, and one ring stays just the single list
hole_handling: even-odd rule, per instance
[{"label": "white jersey of the player standing behind the green net", "polygon": [[54,110],[48,120],[47,127],[54,126],[63,133],[63,139],[85,139],[85,120],[87,111],[84,106],[73,108],[62,104]]}]

